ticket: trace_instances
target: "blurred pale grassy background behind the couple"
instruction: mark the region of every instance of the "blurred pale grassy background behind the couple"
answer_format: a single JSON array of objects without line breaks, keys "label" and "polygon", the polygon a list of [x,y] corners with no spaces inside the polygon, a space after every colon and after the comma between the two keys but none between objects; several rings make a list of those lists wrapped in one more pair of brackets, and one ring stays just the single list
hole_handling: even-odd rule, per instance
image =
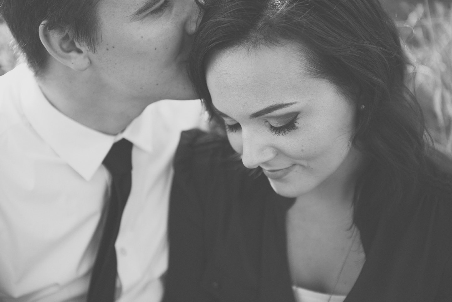
[{"label": "blurred pale grassy background behind the couple", "polygon": [[[363,0],[365,1],[365,0]],[[410,84],[435,146],[452,153],[452,0],[381,0],[415,66]],[[0,17],[0,76],[20,57]]]}]

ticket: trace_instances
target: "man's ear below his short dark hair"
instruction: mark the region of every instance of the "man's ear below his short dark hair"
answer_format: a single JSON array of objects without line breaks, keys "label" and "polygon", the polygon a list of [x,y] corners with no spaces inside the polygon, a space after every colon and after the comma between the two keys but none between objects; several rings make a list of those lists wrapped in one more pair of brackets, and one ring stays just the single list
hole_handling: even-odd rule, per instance
[{"label": "man's ear below his short dark hair", "polygon": [[48,30],[44,21],[39,26],[39,38],[47,52],[61,64],[76,71],[84,71],[91,64],[88,47],[76,42],[66,30]]}]

